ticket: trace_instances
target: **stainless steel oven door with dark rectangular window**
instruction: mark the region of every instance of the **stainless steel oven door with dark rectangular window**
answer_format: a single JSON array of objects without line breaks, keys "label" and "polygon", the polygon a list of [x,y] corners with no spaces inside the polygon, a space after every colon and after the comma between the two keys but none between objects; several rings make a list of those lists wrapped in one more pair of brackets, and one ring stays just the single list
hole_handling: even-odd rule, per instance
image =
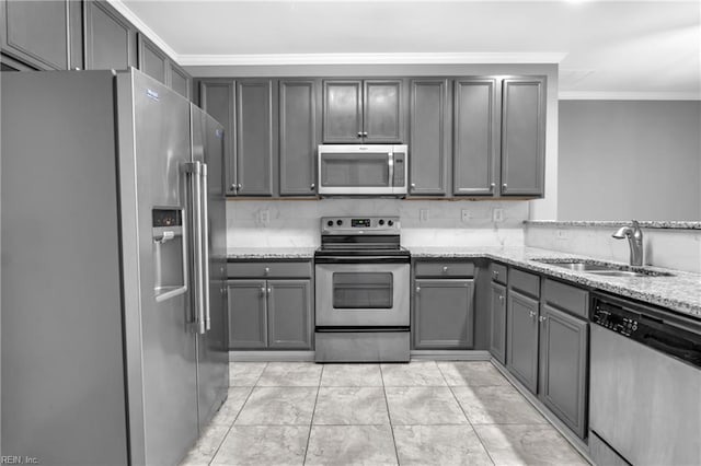
[{"label": "stainless steel oven door with dark rectangular window", "polygon": [[409,263],[361,260],[317,263],[317,326],[409,326]]}]

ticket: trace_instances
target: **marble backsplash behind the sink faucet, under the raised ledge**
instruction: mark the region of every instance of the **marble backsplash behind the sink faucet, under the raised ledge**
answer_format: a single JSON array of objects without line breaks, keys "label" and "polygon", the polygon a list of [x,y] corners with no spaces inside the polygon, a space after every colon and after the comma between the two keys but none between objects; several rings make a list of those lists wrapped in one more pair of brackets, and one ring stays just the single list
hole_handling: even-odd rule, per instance
[{"label": "marble backsplash behind the sink faucet, under the raised ledge", "polygon": [[[566,223],[527,223],[525,245],[602,260],[629,261],[628,240],[613,238],[611,235],[618,228],[609,225],[610,222]],[[701,230],[645,226],[642,230],[645,265],[701,273]]]}]

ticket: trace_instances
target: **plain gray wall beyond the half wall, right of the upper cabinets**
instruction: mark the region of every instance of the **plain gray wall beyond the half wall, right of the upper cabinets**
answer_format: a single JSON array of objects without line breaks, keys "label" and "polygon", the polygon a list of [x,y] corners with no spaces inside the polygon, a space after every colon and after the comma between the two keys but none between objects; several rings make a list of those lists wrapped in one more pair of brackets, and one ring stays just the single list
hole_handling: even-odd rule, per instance
[{"label": "plain gray wall beyond the half wall, right of the upper cabinets", "polygon": [[561,101],[558,220],[701,220],[700,135],[699,101]]}]

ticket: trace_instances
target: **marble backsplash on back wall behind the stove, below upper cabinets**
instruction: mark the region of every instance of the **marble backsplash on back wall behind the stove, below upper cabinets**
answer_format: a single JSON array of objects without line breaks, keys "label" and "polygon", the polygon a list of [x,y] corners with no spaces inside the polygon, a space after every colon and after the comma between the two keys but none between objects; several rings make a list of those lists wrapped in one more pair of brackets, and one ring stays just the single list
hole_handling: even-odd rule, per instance
[{"label": "marble backsplash on back wall behind the stove, below upper cabinets", "polygon": [[[522,222],[528,219],[528,209],[525,201],[230,200],[227,245],[315,247],[320,241],[320,218],[363,214],[399,215],[402,244],[407,247],[522,246]],[[501,220],[495,221],[495,213]]]}]

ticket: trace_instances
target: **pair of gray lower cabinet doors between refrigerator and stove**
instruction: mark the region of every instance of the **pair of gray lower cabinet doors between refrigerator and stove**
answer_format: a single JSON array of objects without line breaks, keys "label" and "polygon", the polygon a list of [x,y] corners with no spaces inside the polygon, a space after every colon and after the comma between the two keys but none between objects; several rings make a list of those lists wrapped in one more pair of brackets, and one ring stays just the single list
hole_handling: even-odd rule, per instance
[{"label": "pair of gray lower cabinet doors between refrigerator and stove", "polygon": [[311,280],[229,280],[229,348],[310,350]]}]

